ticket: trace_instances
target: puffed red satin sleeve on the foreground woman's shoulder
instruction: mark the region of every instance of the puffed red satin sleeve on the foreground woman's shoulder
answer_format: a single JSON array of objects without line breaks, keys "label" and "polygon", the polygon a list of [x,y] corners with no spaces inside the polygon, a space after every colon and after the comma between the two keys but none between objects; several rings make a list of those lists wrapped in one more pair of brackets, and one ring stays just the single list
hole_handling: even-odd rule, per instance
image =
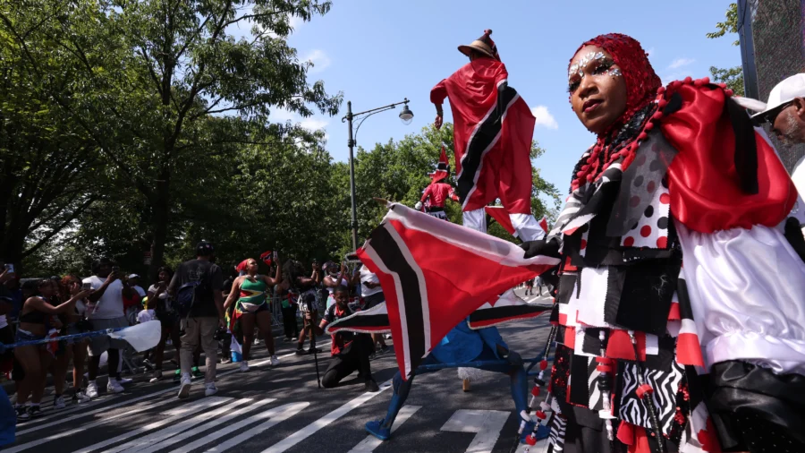
[{"label": "puffed red satin sleeve on the foreground woman's shoulder", "polygon": [[701,233],[753,225],[776,226],[797,191],[774,148],[757,131],[758,193],[741,190],[735,167],[735,133],[724,109],[724,90],[682,85],[682,107],[660,123],[679,153],[668,167],[671,212]]}]

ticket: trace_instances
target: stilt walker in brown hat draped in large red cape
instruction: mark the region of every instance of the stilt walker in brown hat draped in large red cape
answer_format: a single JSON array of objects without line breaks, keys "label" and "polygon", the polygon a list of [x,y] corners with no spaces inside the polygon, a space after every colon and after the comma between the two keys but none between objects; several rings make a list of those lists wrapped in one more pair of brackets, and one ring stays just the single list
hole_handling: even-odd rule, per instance
[{"label": "stilt walker in brown hat draped in large red cape", "polygon": [[442,127],[442,104],[450,99],[456,185],[463,225],[486,232],[484,207],[496,199],[504,205],[524,241],[545,234],[531,215],[531,139],[534,115],[508,85],[492,30],[459,51],[470,58],[430,91],[436,106],[436,129]]}]

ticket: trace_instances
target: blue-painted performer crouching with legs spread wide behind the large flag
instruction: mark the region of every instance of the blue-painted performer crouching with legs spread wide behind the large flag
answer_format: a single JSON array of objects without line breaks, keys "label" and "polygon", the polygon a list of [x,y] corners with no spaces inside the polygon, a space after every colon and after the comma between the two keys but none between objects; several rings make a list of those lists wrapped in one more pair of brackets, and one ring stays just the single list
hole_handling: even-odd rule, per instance
[{"label": "blue-painted performer crouching with legs spread wide behind the large flag", "polygon": [[[528,378],[522,366],[521,356],[509,350],[497,329],[472,330],[467,321],[462,321],[430,352],[422,362],[422,365],[496,361],[501,359],[505,359],[508,363],[482,366],[480,369],[487,372],[503,372],[509,375],[514,407],[518,418],[521,418],[521,414],[527,413]],[[394,374],[394,395],[389,403],[386,417],[380,421],[366,423],[366,431],[369,434],[380,440],[388,440],[391,436],[394,419],[405,404],[409,391],[411,391],[414,376],[427,372],[431,371],[420,366],[415,372],[411,372],[408,380],[402,380],[400,372]],[[530,423],[530,427],[533,427],[533,423]],[[530,429],[523,430],[523,437],[530,434],[530,432]],[[545,437],[547,437],[547,430],[542,426],[540,438]]]}]

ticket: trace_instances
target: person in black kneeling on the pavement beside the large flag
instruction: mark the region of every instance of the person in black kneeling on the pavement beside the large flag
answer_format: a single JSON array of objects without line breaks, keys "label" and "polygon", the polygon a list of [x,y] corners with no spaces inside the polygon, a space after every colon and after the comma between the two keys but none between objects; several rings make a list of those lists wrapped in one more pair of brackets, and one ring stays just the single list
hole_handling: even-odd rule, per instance
[{"label": "person in black kneeling on the pavement beside the large flag", "polygon": [[[327,324],[346,318],[352,314],[350,310],[350,290],[346,286],[336,286],[333,293],[335,303],[327,309],[324,319],[319,324],[317,333],[321,335]],[[343,378],[357,371],[363,378],[368,391],[378,391],[377,382],[372,379],[369,367],[369,355],[374,350],[372,338],[367,334],[340,331],[333,336],[330,346],[332,358],[327,371],[321,379],[321,386],[332,389]]]}]

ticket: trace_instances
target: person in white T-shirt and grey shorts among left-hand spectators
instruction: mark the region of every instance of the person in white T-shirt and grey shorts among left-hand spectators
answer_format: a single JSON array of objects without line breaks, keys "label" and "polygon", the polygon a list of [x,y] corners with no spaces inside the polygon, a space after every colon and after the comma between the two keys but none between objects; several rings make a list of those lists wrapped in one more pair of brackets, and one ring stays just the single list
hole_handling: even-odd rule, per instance
[{"label": "person in white T-shirt and grey shorts among left-hand spectators", "polygon": [[[93,330],[118,329],[129,326],[123,311],[123,297],[131,297],[131,287],[121,279],[120,268],[114,261],[101,258],[95,263],[95,275],[84,278],[83,283],[89,283],[92,293],[89,295],[87,318],[92,323]],[[120,384],[120,372],[117,369],[120,363],[120,350],[126,347],[125,340],[106,336],[91,338],[89,340],[89,385],[87,396],[95,398],[97,391],[97,372],[100,365],[100,356],[106,352],[108,356],[109,381],[106,391],[120,393],[123,386]]]}]

